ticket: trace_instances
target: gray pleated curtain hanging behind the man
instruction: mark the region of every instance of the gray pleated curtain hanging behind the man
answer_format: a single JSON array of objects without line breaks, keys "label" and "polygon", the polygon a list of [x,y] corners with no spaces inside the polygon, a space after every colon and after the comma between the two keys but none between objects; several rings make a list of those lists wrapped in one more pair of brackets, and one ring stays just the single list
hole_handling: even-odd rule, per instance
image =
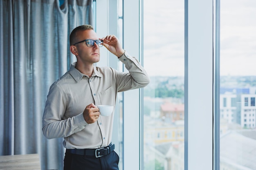
[{"label": "gray pleated curtain hanging behind the man", "polygon": [[0,155],[38,153],[42,170],[63,169],[63,139],[43,136],[43,110],[49,86],[76,61],[70,32],[94,26],[92,3],[0,0]]}]

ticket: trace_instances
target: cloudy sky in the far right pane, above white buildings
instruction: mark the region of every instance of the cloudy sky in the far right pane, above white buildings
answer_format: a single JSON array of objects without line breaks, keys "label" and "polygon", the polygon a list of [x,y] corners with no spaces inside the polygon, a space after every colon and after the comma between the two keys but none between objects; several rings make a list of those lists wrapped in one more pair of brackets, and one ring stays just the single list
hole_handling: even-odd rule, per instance
[{"label": "cloudy sky in the far right pane, above white buildings", "polygon": [[256,1],[220,2],[220,73],[256,75]]}]

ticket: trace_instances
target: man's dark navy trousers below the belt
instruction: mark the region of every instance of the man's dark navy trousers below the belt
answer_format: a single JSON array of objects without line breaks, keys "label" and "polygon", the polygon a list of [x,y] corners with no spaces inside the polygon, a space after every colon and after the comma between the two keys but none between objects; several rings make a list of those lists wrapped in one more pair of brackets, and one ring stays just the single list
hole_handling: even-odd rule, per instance
[{"label": "man's dark navy trousers below the belt", "polygon": [[119,156],[115,151],[103,157],[65,153],[64,170],[119,170]]}]

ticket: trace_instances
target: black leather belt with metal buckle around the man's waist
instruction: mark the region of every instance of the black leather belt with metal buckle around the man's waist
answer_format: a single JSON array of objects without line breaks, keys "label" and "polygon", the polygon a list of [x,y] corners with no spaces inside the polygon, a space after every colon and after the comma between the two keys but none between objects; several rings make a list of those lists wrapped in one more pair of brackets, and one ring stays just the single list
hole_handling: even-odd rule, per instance
[{"label": "black leather belt with metal buckle around the man's waist", "polygon": [[94,156],[96,158],[110,154],[115,149],[115,144],[98,149],[66,149],[67,153],[76,155]]}]

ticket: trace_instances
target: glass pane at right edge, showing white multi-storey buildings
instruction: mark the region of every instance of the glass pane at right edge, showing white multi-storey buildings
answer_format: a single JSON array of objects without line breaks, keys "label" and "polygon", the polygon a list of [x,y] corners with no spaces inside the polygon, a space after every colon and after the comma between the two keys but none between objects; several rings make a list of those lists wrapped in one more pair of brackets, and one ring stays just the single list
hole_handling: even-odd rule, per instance
[{"label": "glass pane at right edge, showing white multi-storey buildings", "polygon": [[220,1],[220,170],[256,169],[255,21],[255,0]]}]

